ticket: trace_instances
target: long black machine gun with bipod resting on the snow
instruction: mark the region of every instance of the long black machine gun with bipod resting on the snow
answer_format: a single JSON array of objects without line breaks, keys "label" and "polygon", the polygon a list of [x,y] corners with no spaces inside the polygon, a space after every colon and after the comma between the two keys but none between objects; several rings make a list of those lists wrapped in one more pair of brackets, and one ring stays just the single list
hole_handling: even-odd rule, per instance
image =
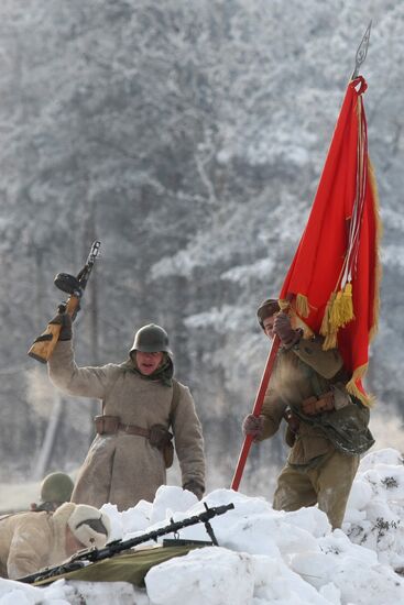
[{"label": "long black machine gun with bipod resting on the snow", "polygon": [[[138,544],[149,542],[150,540],[157,541],[157,538],[160,536],[166,536],[167,534],[174,534],[174,536],[177,536],[178,529],[183,529],[184,527],[189,527],[192,525],[200,522],[205,525],[206,531],[208,532],[211,541],[203,542],[198,540],[188,540],[187,542],[199,546],[218,546],[218,541],[214,534],[214,528],[211,527],[209,521],[214,517],[223,515],[228,510],[231,510],[232,508],[234,508],[234,505],[230,503],[222,506],[209,508],[207,504],[204,503],[204,506],[205,510],[199,515],[194,515],[192,517],[183,519],[182,521],[174,521],[173,519],[171,519],[171,522],[165,527],[153,529],[148,534],[142,534],[141,536],[138,536],[135,538],[129,538],[128,540],[114,540],[113,542],[109,542],[103,548],[98,549],[94,547],[86,550],[79,550],[78,552],[76,552],[76,554],[73,554],[70,559],[68,559],[64,563],[61,563],[59,565],[56,565],[54,568],[45,568],[35,573],[31,573],[30,575],[25,575],[24,578],[19,578],[18,580],[19,582],[33,584],[34,582],[39,582],[40,580],[48,580],[50,578],[54,578],[56,575],[63,575],[70,571],[79,570],[88,565],[89,563],[96,563],[97,561],[110,559],[116,554],[122,553]],[[185,540],[178,540],[178,538],[175,538],[174,540],[168,540],[167,544],[165,544],[164,542],[163,546],[173,546],[174,543],[177,543],[179,546],[181,543],[184,543]]]}]

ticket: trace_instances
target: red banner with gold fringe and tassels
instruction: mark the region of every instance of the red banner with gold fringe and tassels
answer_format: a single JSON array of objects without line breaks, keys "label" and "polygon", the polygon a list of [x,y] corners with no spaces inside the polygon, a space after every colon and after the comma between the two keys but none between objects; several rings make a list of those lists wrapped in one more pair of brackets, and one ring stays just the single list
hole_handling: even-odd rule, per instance
[{"label": "red banner with gold fringe and tassels", "polygon": [[283,284],[293,309],[338,346],[352,378],[348,391],[369,404],[361,378],[379,316],[378,193],[368,156],[362,77],[349,82],[312,211]]}]

